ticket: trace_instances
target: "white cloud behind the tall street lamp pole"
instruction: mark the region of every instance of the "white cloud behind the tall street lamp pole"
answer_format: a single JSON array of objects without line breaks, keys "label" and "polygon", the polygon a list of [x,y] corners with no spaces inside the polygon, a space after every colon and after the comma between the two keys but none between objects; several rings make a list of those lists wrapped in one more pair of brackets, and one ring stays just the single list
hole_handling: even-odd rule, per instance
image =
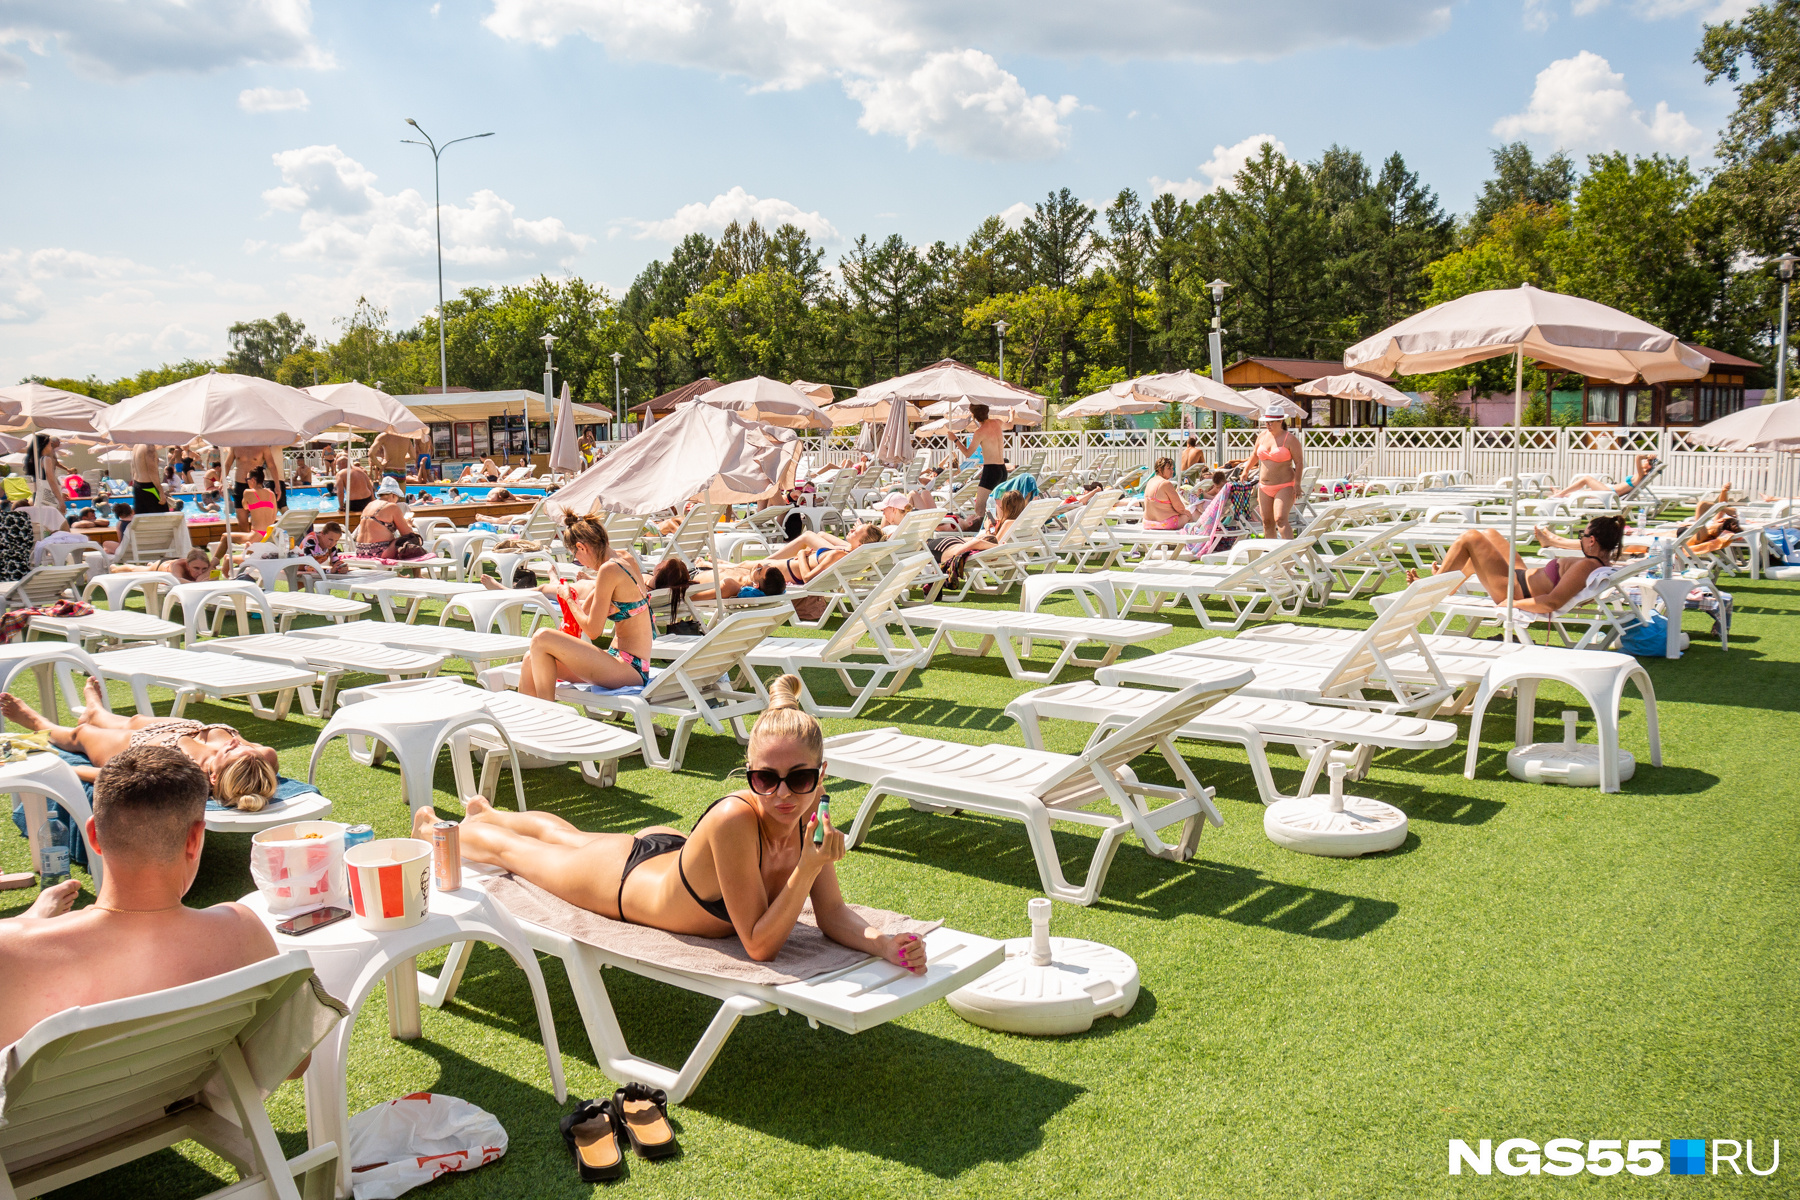
[{"label": "white cloud behind the tall street lamp pole", "polygon": [[[281,257],[376,275],[436,272],[434,212],[418,191],[382,193],[374,173],[337,146],[284,149],[274,162],[281,187],[265,191],[263,200],[279,212],[299,212],[301,232],[299,241],[279,246]],[[443,225],[445,263],[479,266],[486,275],[567,266],[592,241],[553,216],[527,221],[488,189],[466,205],[446,203]]]}]

